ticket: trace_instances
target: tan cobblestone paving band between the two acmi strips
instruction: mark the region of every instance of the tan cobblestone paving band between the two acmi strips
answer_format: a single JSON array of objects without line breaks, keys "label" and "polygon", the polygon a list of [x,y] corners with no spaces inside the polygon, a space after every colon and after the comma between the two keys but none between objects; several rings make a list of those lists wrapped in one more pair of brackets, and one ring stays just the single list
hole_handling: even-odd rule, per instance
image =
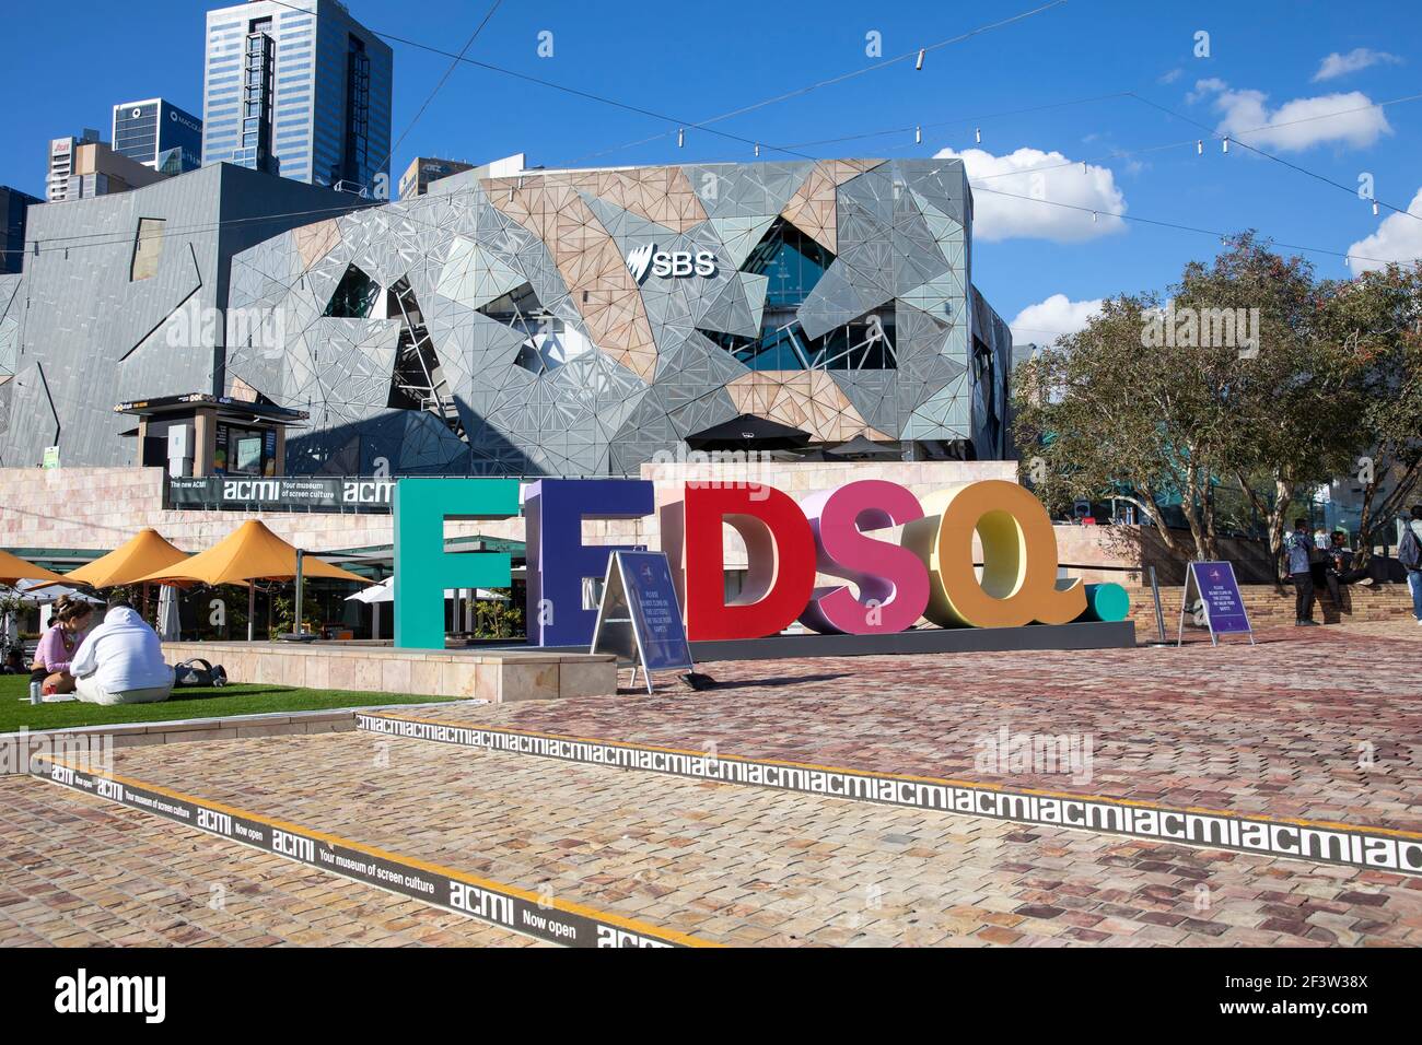
[{"label": "tan cobblestone paving band between the two acmi strips", "polygon": [[[132,748],[115,772],[729,944],[1422,944],[1422,879],[371,734]],[[213,842],[146,825],[152,857],[208,874]],[[356,890],[290,873],[328,890],[309,917]]]}]

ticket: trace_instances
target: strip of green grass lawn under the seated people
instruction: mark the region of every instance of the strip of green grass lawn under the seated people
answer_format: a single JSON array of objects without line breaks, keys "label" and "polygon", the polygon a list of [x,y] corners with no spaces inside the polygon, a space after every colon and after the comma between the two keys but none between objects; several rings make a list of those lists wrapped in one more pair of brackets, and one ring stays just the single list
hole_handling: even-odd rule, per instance
[{"label": "strip of green grass lawn under the seated people", "polygon": [[176,718],[218,718],[223,715],[260,715],[283,711],[323,711],[360,708],[374,704],[429,704],[441,697],[417,697],[394,692],[357,692],[351,690],[300,690],[292,685],[249,682],[218,690],[181,687],[161,704],[121,704],[98,707],[71,701],[38,704],[28,700],[28,675],[0,675],[0,732],[14,729],[58,729],[74,725],[111,725],[115,722],[164,722]]}]

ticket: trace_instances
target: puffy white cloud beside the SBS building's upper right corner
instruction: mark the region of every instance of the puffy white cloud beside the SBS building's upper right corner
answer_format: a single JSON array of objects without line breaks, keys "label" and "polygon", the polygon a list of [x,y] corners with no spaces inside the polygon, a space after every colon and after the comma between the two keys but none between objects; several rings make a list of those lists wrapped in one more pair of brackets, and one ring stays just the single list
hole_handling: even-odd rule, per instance
[{"label": "puffy white cloud beside the SBS building's upper right corner", "polygon": [[973,183],[973,235],[980,240],[1081,243],[1126,227],[1116,216],[1125,213],[1126,198],[1109,168],[1088,165],[1084,172],[1079,162],[1061,152],[1041,149],[1017,149],[1005,156],[984,149],[943,149],[937,156],[961,159],[967,168]]}]

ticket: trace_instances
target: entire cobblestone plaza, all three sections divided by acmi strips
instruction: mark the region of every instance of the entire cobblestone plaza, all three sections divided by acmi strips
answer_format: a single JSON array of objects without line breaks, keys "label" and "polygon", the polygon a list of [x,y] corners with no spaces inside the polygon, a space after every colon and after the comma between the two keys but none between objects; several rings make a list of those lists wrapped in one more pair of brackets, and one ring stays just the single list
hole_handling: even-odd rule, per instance
[{"label": "entire cobblestone plaza, all three sections divided by acmi strips", "polygon": [[[1416,633],[728,663],[704,692],[400,714],[984,781],[977,741],[1000,725],[1089,732],[1089,781],[997,782],[1415,829]],[[419,739],[132,748],[114,772],[710,943],[1422,944],[1416,876]],[[43,781],[0,788],[0,944],[526,943]]]}]

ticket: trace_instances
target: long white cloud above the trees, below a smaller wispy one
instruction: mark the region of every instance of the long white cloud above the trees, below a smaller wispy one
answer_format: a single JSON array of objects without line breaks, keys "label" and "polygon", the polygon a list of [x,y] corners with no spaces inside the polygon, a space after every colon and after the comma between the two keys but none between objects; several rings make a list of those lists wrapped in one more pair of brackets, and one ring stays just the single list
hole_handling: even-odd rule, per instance
[{"label": "long white cloud above the trees, below a smaller wispy one", "polygon": [[1334,142],[1365,148],[1385,134],[1392,134],[1381,105],[1362,91],[1294,98],[1270,111],[1263,91],[1233,91],[1223,80],[1200,80],[1186,95],[1190,102],[1214,97],[1221,114],[1216,134],[1264,148],[1301,152],[1314,145]]}]

